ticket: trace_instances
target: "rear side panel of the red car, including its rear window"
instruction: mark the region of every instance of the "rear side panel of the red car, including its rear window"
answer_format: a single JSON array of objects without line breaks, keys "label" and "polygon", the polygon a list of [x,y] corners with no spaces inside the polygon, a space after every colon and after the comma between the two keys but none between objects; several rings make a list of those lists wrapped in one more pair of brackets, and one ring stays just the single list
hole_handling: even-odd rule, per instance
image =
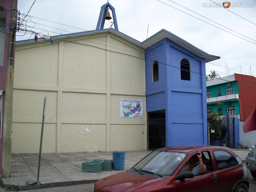
[{"label": "rear side panel of the red car, including its rear window", "polygon": [[213,150],[220,180],[220,192],[231,192],[236,181],[243,178],[243,169],[236,158],[225,150]]}]

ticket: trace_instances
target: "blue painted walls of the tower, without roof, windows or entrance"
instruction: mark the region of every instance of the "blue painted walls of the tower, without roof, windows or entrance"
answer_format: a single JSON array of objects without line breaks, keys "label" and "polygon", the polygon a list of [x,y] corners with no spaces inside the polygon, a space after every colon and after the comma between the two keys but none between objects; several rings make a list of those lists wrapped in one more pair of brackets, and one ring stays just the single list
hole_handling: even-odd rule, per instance
[{"label": "blue painted walls of the tower, without roof, windows or entrance", "polygon": [[[180,61],[190,63],[190,81],[181,80]],[[159,80],[152,82],[158,61]],[[147,112],[165,109],[166,146],[207,144],[205,59],[168,38],[145,50]]]}]

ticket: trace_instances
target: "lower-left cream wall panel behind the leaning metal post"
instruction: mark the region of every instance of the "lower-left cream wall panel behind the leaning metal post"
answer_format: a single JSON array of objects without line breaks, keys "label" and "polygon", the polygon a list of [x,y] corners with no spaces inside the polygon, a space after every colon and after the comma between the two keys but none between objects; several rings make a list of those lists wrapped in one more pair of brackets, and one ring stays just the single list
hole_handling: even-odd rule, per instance
[{"label": "lower-left cream wall panel behind the leaning metal post", "polygon": [[[12,153],[39,153],[40,123],[12,123]],[[56,124],[44,124],[42,153],[56,153]]]}]

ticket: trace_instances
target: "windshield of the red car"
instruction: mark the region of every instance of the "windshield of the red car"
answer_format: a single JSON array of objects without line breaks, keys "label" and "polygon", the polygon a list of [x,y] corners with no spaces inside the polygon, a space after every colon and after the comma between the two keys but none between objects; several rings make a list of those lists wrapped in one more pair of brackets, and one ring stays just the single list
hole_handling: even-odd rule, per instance
[{"label": "windshield of the red car", "polygon": [[172,175],[183,162],[186,153],[156,150],[137,163],[134,168],[141,172]]}]

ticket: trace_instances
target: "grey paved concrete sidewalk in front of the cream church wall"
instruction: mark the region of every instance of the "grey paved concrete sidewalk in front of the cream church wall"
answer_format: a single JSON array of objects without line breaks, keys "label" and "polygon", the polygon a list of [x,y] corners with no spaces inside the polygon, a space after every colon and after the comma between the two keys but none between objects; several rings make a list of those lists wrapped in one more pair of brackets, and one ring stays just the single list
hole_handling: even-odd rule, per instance
[{"label": "grey paved concrete sidewalk in front of the cream church wall", "polygon": [[[243,161],[248,149],[232,149]],[[126,151],[124,170],[131,168],[143,157],[145,151]],[[38,154],[13,154],[11,178],[2,179],[4,187],[19,187],[21,190],[33,188],[48,188],[61,185],[92,183],[112,175],[117,170],[100,173],[82,172],[82,163],[92,159],[113,159],[112,152],[76,152],[76,153],[45,153],[42,154],[40,168],[40,184],[27,185],[28,179],[37,178]]]}]

